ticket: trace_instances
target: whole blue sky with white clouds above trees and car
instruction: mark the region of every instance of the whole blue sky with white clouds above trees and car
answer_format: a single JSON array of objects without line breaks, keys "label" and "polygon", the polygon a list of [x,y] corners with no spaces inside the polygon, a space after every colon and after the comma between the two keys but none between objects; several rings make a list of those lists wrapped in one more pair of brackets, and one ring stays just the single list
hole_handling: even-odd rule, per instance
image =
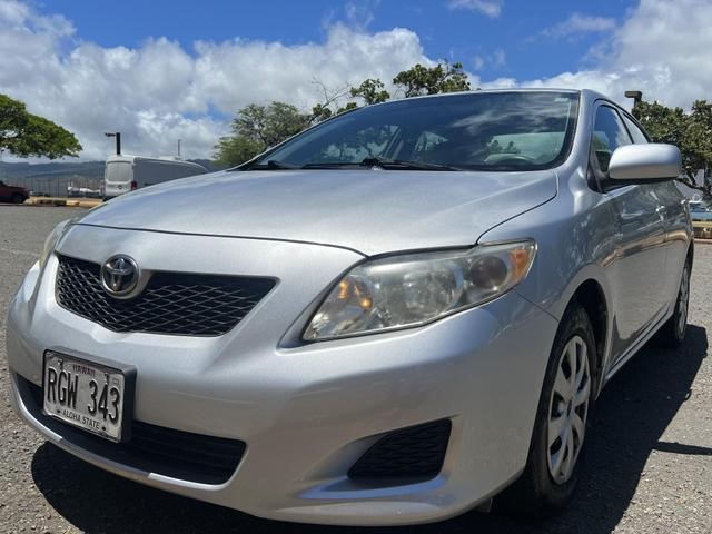
[{"label": "whole blue sky with white clouds above trees and car", "polygon": [[[250,102],[461,61],[473,87],[712,100],[710,0],[0,0],[0,93],[112,150],[210,157]],[[6,159],[7,155],[6,155]]]}]

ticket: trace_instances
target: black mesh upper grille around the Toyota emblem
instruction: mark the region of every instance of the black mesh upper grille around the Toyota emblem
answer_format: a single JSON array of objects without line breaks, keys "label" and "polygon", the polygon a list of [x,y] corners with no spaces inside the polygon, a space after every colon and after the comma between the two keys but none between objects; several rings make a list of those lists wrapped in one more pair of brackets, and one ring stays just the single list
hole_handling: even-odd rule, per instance
[{"label": "black mesh upper grille around the Toyota emblem", "polygon": [[101,266],[59,256],[57,301],[113,332],[220,336],[234,328],[274,287],[271,278],[157,271],[128,300],[101,287]]}]

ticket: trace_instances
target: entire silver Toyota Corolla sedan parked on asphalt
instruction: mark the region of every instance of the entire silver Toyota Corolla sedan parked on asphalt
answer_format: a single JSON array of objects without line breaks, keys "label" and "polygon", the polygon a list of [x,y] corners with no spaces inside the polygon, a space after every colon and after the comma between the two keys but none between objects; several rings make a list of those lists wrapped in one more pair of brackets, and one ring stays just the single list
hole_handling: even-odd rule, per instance
[{"label": "entire silver Toyota Corolla sedan parked on asphalt", "polygon": [[13,406],[91,464],[264,517],[552,513],[603,385],[683,340],[679,172],[587,90],[344,113],[60,224],[10,305]]}]

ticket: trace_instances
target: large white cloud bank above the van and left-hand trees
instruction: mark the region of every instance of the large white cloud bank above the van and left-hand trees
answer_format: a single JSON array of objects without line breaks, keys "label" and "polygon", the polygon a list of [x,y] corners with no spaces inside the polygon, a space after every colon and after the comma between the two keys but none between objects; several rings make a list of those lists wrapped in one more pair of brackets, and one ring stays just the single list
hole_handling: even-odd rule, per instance
[{"label": "large white cloud bank above the van and left-hand trees", "polygon": [[309,109],[319,99],[314,79],[340,88],[432,63],[402,28],[367,33],[336,23],[323,42],[199,41],[189,51],[165,38],[102,48],[73,36],[62,17],[0,0],[0,92],[73,131],[82,159],[106,158],[112,141],[103,132],[116,130],[126,152],[174,154],[182,139],[187,157],[210,157],[229,118],[250,102]]}]

